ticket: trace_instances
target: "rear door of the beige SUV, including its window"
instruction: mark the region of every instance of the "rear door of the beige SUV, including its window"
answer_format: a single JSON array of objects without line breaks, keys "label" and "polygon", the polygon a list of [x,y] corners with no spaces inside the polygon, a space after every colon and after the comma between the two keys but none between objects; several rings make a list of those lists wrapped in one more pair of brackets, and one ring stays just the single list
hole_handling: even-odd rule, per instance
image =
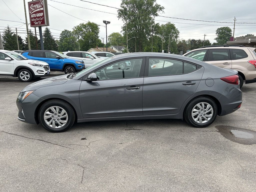
[{"label": "rear door of the beige SUV, including its window", "polygon": [[209,49],[205,62],[221,68],[226,68],[226,69],[232,68],[232,60],[230,57],[229,49],[227,48]]}]

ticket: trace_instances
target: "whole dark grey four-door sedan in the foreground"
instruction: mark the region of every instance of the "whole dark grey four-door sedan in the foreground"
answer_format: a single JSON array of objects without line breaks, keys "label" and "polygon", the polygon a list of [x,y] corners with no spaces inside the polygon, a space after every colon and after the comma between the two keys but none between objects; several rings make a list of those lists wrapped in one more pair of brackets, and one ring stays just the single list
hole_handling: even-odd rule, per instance
[{"label": "whole dark grey four-door sedan in the foreground", "polygon": [[[172,65],[151,68],[155,59]],[[132,68],[111,67],[120,62]],[[74,122],[157,118],[206,127],[241,103],[237,71],[164,53],[110,57],[76,74],[30,84],[16,101],[19,120],[51,132],[66,131]]]}]

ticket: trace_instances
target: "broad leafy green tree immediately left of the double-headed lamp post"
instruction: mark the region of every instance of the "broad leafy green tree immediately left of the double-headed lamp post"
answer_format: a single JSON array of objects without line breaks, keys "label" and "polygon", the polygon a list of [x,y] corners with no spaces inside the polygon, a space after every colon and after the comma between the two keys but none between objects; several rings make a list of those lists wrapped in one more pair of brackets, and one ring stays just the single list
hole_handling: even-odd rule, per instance
[{"label": "broad leafy green tree immediately left of the double-headed lamp post", "polygon": [[102,45],[99,39],[99,32],[99,26],[94,22],[81,23],[73,28],[73,33],[82,51]]}]

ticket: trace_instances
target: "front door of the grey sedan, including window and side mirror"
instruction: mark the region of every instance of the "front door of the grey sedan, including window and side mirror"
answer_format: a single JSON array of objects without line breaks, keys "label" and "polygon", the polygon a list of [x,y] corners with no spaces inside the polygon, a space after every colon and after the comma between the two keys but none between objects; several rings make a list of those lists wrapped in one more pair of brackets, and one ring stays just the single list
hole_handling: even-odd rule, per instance
[{"label": "front door of the grey sedan, including window and side mirror", "polygon": [[[142,116],[145,58],[130,58],[133,68],[120,69],[113,62],[95,71],[97,81],[82,81],[79,92],[84,118]],[[86,78],[86,77],[84,77]]]}]

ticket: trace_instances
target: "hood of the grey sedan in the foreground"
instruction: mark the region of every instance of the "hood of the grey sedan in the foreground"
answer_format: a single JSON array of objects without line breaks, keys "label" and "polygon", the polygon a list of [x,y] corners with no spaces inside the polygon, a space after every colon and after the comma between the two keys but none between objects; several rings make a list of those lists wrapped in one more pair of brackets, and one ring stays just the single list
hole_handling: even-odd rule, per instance
[{"label": "hood of the grey sedan in the foreground", "polygon": [[47,78],[44,80],[40,80],[38,82],[34,82],[28,86],[26,86],[23,91],[31,91],[31,90],[37,90],[41,87],[46,87],[46,86],[52,86],[52,85],[60,85],[60,84],[64,84],[65,82],[68,81],[67,76],[70,74],[66,74],[66,75],[61,75],[61,76],[56,76],[56,77],[52,77],[52,78]]}]

